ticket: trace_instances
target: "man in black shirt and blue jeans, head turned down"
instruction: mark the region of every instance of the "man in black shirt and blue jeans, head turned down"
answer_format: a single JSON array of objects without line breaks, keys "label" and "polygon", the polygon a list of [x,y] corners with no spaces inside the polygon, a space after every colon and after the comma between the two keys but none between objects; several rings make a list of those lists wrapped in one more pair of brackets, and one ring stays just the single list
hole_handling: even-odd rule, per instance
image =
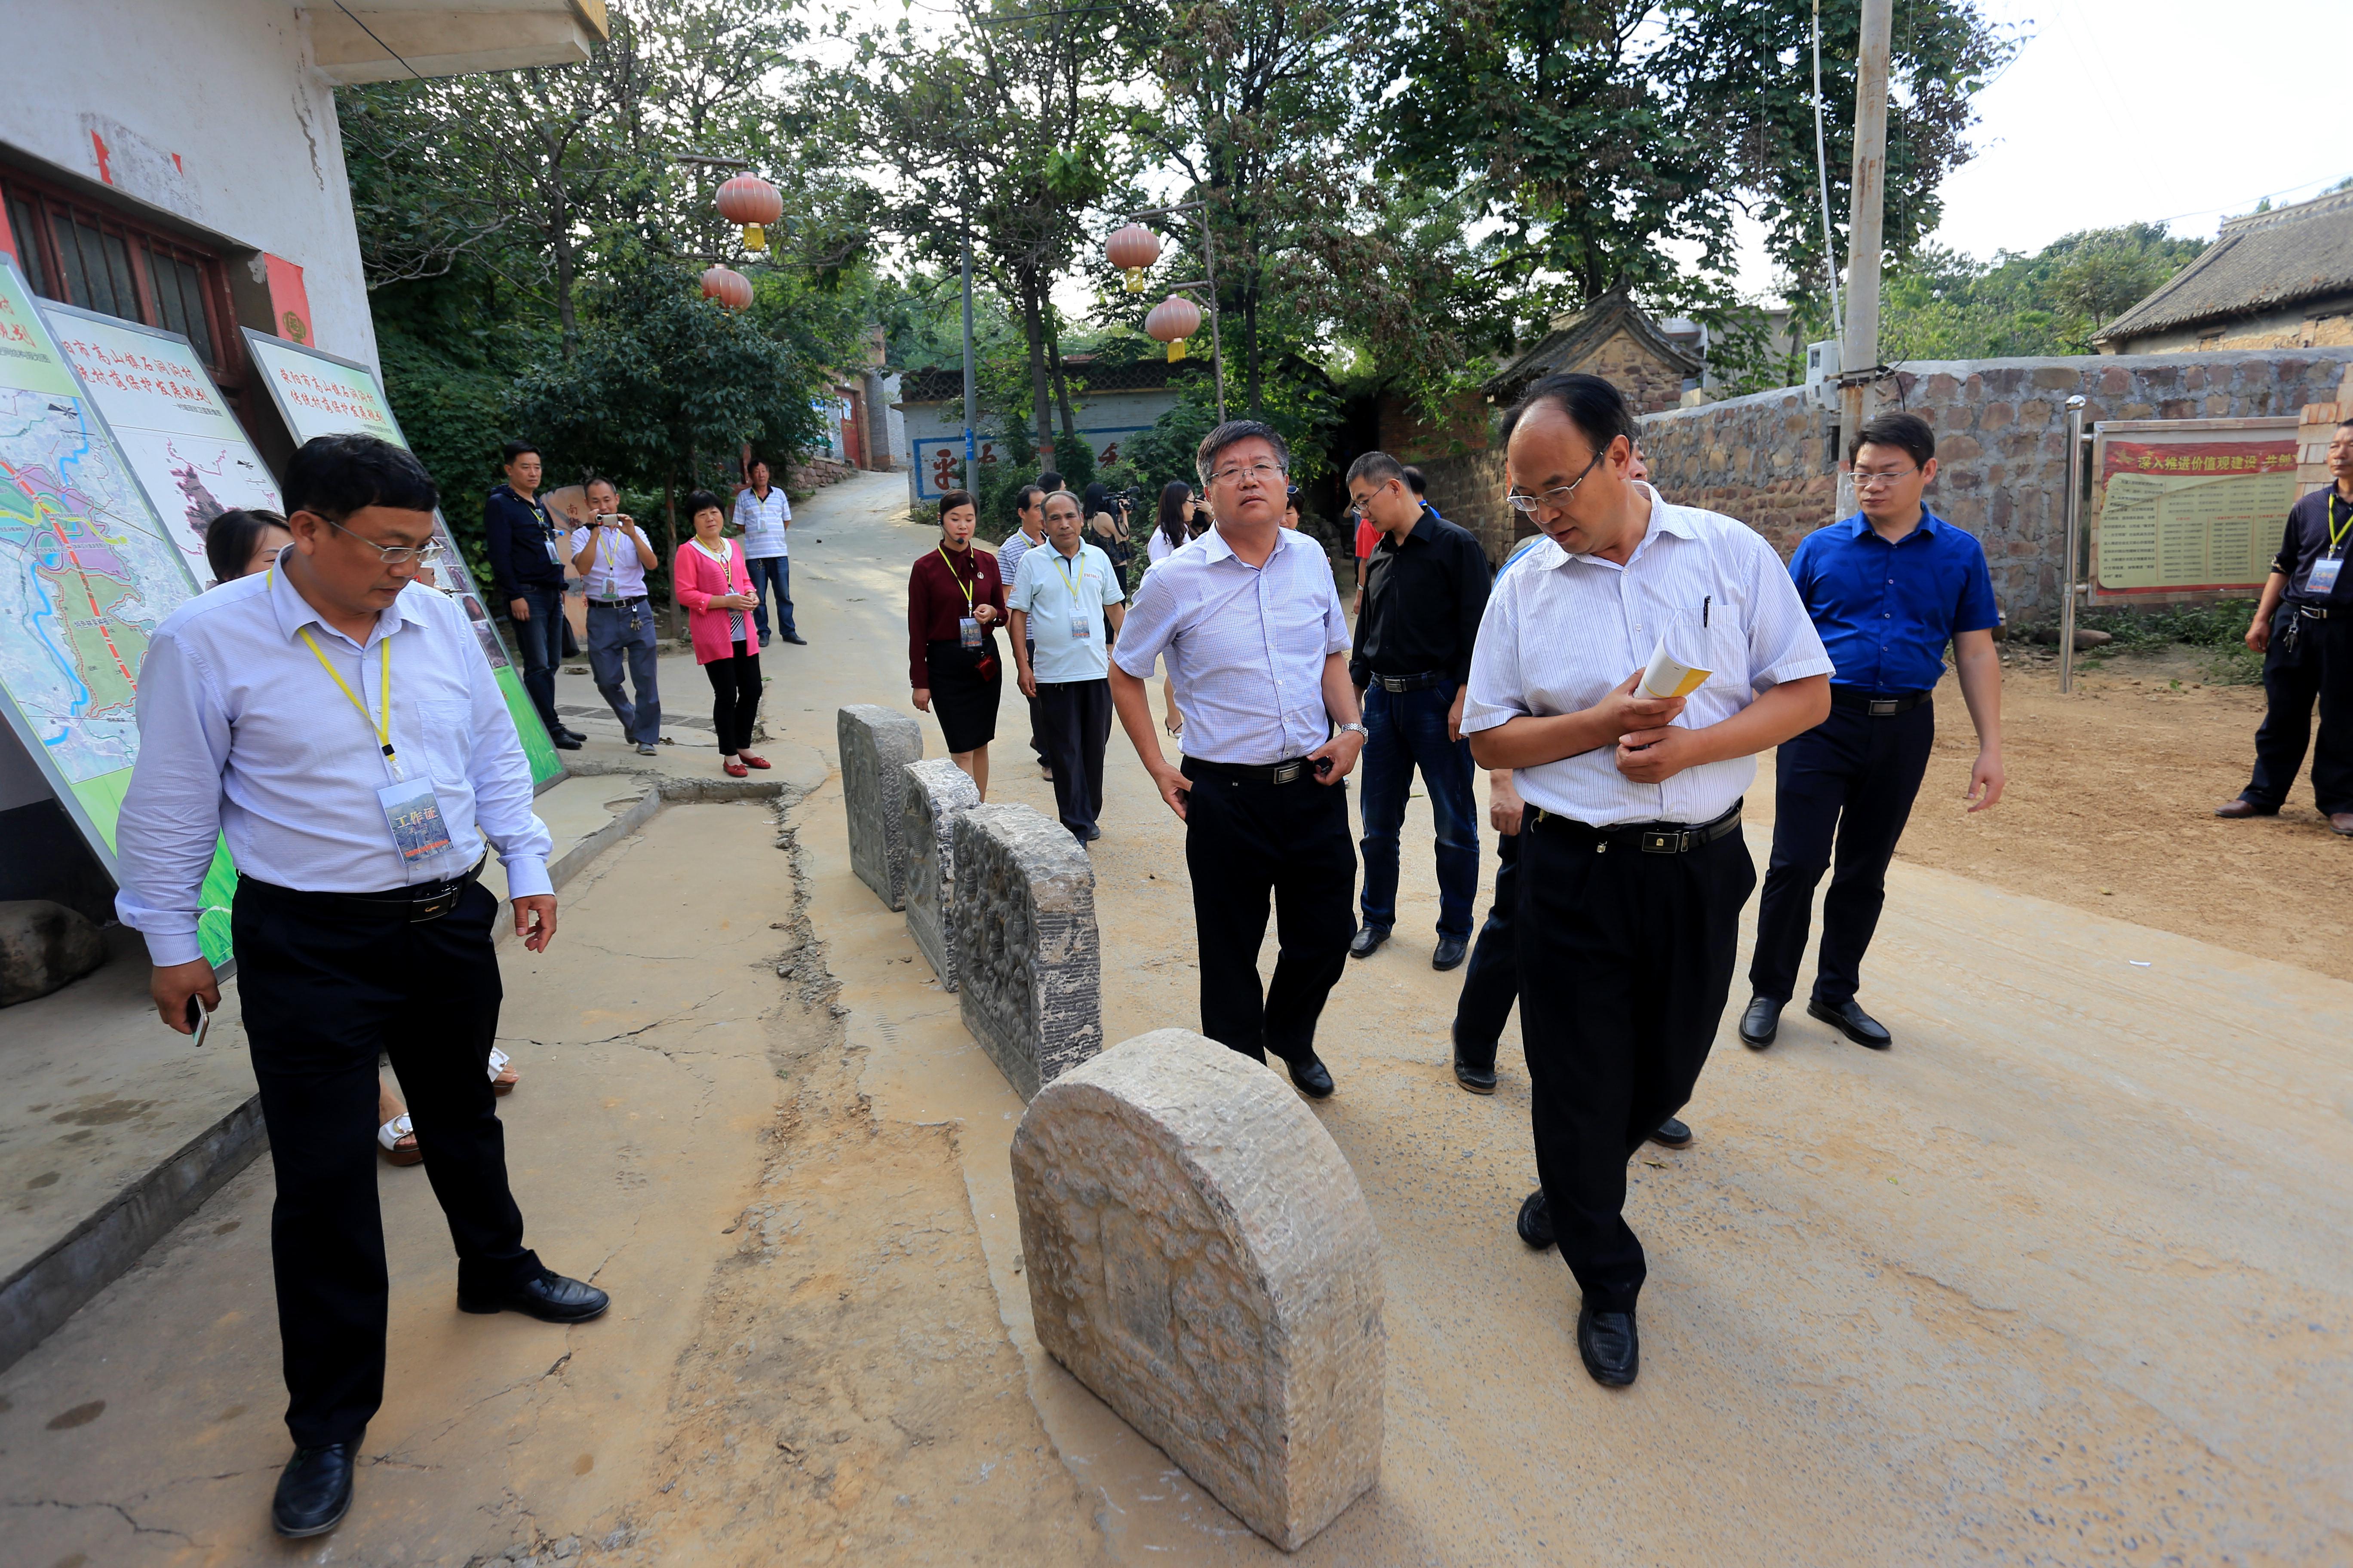
[{"label": "man in black shirt and blue jeans, head turned down", "polygon": [[1367,451],[1348,468],[1348,498],[1381,529],[1365,569],[1348,679],[1365,703],[1365,924],[1348,957],[1372,957],[1398,919],[1398,830],[1421,769],[1438,825],[1438,947],[1454,969],[1471,947],[1478,893],[1478,802],[1464,741],[1464,682],[1487,614],[1487,552],[1428,508],[1405,465]]}]

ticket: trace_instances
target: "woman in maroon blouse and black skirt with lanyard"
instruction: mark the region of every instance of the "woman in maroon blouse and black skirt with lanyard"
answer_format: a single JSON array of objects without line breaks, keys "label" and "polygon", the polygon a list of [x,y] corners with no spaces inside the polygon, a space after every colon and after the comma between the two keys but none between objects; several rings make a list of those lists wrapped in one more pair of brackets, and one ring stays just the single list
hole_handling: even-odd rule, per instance
[{"label": "woman in maroon blouse and black skirt with lanyard", "polygon": [[939,498],[939,548],[906,578],[906,665],[915,708],[939,717],[948,757],[988,799],[988,743],[998,738],[998,628],[1005,578],[998,557],[972,548],[979,505],[969,491]]}]

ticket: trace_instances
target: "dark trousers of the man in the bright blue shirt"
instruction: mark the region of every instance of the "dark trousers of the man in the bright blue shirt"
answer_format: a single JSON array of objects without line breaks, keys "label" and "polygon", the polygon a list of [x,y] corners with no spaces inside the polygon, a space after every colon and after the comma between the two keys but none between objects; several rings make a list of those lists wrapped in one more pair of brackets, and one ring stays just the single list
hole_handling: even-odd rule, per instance
[{"label": "dark trousers of the man in the bright blue shirt", "polygon": [[1814,886],[1835,853],[1838,872],[1821,898],[1814,999],[1831,1006],[1854,1001],[1864,952],[1887,903],[1887,863],[1911,820],[1934,743],[1934,703],[1885,719],[1833,708],[1828,719],[1781,743],[1774,757],[1772,860],[1765,863],[1758,947],[1748,961],[1748,990],[1758,997],[1788,1001],[1798,987]]}]

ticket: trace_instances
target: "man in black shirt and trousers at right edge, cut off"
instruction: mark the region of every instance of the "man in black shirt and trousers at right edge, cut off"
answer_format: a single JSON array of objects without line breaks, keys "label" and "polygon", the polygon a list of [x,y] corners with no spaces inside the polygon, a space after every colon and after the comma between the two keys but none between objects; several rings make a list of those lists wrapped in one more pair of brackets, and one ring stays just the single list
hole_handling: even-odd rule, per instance
[{"label": "man in black shirt and trousers at right edge, cut off", "polygon": [[[2353,837],[2353,418],[2329,440],[2337,482],[2287,508],[2247,646],[2264,656],[2264,726],[2254,778],[2214,816],[2278,816],[2313,750],[2313,799],[2329,832]],[[2320,736],[2313,741],[2313,703]]]}]

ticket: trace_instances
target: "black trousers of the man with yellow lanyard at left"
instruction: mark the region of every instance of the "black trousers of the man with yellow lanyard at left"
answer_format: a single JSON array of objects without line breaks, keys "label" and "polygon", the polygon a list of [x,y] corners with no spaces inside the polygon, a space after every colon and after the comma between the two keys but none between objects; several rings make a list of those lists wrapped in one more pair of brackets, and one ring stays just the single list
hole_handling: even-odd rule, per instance
[{"label": "black trousers of the man with yellow lanyard at left", "polygon": [[426,1178],[449,1220],[461,1291],[539,1274],[506,1190],[489,1088],[499,1032],[499,900],[480,884],[409,924],[245,879],[231,907],[245,1034],[271,1133],[271,1262],[296,1446],[355,1443],[384,1403],[384,1215],[376,1056],[391,1053]]}]

